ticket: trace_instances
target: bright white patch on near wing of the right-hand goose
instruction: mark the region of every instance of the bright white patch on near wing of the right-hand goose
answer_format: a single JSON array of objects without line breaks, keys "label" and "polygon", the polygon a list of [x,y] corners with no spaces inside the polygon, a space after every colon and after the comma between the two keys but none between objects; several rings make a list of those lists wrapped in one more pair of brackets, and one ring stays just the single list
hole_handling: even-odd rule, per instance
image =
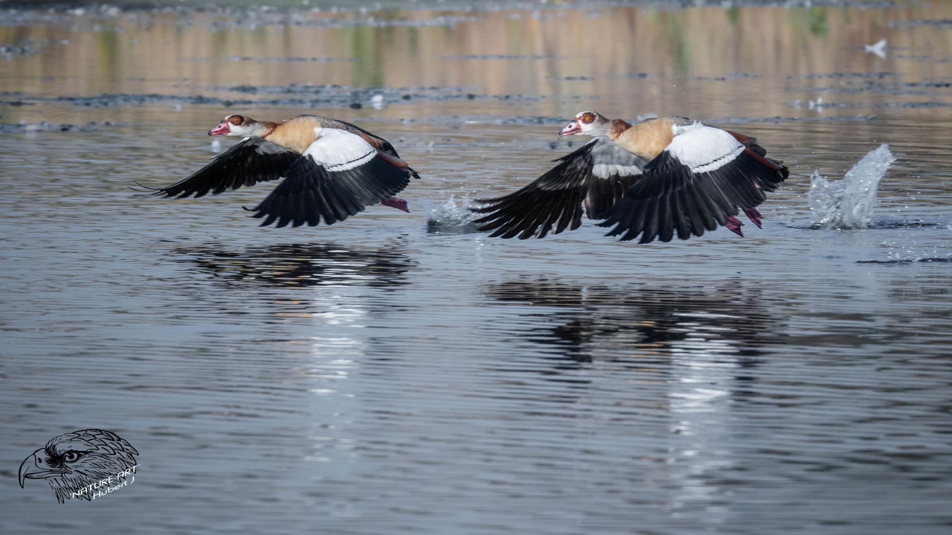
[{"label": "bright white patch on near wing of the right-hand goose", "polygon": [[744,145],[726,130],[695,122],[686,127],[671,127],[674,139],[664,150],[677,158],[691,172],[707,172],[722,168],[744,152]]}]

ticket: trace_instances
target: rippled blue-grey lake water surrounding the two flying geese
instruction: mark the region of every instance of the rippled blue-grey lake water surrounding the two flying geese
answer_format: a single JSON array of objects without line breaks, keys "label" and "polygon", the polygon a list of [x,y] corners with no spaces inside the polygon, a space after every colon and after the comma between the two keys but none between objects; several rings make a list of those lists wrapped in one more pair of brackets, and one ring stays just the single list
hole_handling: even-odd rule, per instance
[{"label": "rippled blue-grey lake water surrounding the two flying geese", "polygon": [[[0,532],[952,531],[950,20],[0,11]],[[790,178],[744,238],[473,231],[584,109],[729,125]],[[258,228],[268,184],[127,188],[201,168],[233,112],[386,137],[411,213]],[[810,175],[882,143],[869,227],[818,228]],[[19,487],[89,427],[139,450],[134,485]]]}]

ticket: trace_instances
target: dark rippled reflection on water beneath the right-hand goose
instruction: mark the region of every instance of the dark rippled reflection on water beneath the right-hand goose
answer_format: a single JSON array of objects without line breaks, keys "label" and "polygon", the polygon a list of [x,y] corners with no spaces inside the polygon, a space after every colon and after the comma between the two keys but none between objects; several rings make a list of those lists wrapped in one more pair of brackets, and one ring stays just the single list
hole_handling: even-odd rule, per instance
[{"label": "dark rippled reflection on water beneath the right-hand goose", "polygon": [[[523,339],[564,347],[565,355],[590,362],[594,354],[638,357],[759,354],[783,344],[780,321],[759,304],[757,293],[740,288],[712,291],[642,287],[577,287],[546,281],[515,281],[486,290],[504,303],[565,308],[539,311]],[[521,333],[525,335],[526,333]]]}]

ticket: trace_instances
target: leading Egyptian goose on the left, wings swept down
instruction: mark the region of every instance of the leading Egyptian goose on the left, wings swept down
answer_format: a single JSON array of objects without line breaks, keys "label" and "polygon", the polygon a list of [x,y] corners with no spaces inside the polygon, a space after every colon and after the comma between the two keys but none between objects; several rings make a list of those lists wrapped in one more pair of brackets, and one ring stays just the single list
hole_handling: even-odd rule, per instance
[{"label": "leading Egyptian goose on the left, wings swept down", "polygon": [[[201,197],[208,192],[285,180],[257,207],[261,226],[325,225],[344,221],[369,205],[407,209],[393,197],[420,178],[387,140],[344,121],[298,115],[273,123],[228,115],[208,135],[245,136],[207,166],[166,188],[149,188],[168,197]],[[248,209],[248,208],[246,208]]]}]

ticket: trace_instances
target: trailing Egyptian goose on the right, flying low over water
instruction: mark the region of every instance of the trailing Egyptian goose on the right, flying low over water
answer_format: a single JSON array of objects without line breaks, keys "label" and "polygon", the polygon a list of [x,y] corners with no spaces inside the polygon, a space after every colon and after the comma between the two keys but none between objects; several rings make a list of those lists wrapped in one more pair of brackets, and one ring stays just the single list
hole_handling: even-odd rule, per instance
[{"label": "trailing Egyptian goose on the right, flying low over water", "polygon": [[479,200],[477,219],[491,236],[542,238],[589,219],[615,226],[609,236],[639,243],[686,240],[724,225],[740,235],[738,208],[761,226],[757,206],[788,175],[765,158],[757,140],[685,119],[657,117],[629,124],[595,111],[575,116],[559,135],[595,136],[581,149],[514,193]]}]

